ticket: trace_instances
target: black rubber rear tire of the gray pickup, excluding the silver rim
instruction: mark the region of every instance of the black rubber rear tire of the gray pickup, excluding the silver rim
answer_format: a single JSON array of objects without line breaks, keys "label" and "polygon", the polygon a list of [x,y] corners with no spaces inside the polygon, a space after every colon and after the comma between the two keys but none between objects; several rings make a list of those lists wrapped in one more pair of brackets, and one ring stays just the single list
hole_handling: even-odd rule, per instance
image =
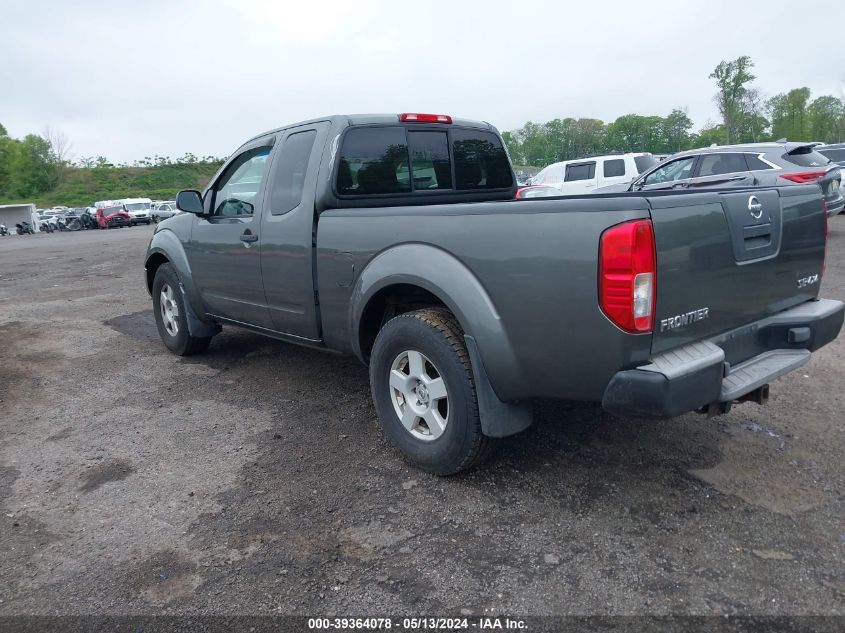
[{"label": "black rubber rear tire of the gray pickup, excluding the silver rim", "polygon": [[[445,382],[448,416],[442,435],[419,439],[403,426],[390,386],[394,360],[421,353]],[[413,465],[435,475],[453,475],[486,459],[495,439],[481,431],[475,383],[463,332],[450,312],[426,308],[401,314],[384,325],[370,356],[370,388],[385,433]],[[405,405],[407,406],[407,405]]]}]

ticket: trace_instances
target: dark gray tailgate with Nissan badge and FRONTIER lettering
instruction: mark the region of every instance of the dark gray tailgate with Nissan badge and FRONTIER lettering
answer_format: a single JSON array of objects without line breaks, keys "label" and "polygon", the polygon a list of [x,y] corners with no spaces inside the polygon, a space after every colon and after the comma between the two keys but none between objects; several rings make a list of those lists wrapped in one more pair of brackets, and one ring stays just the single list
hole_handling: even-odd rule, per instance
[{"label": "dark gray tailgate with Nissan badge and FRONTIER lettering", "polygon": [[649,196],[657,251],[652,353],[818,295],[825,211],[817,185]]}]

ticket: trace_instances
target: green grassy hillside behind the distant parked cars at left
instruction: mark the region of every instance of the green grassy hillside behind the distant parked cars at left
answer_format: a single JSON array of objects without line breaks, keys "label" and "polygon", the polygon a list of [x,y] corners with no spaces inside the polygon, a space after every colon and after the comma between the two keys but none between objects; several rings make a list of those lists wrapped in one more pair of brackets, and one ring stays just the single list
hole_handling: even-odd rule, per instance
[{"label": "green grassy hillside behind the distant parked cars at left", "polygon": [[49,208],[54,205],[88,206],[95,200],[115,198],[172,200],[180,189],[202,189],[219,167],[218,162],[155,167],[69,167],[52,191],[29,200],[0,199],[0,204],[31,202]]}]

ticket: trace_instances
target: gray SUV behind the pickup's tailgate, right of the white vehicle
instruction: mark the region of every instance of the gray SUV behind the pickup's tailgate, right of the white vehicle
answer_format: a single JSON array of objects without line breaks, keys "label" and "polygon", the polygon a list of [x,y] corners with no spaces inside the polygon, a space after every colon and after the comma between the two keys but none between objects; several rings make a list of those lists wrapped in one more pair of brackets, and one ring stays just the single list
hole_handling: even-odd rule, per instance
[{"label": "gray SUV behind the pickup's tailgate, right of the white vehicle", "polygon": [[672,155],[629,185],[615,185],[596,193],[660,191],[723,187],[772,187],[818,183],[829,215],[845,207],[839,191],[839,167],[807,143],[718,145]]}]

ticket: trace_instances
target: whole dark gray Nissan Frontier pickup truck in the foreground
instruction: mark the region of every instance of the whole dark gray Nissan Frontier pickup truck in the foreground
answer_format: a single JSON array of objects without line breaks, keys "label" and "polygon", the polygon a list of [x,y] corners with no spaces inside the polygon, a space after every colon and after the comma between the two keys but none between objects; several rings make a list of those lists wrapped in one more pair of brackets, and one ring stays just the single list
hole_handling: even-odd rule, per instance
[{"label": "whole dark gray Nissan Frontier pickup truck in the foreground", "polygon": [[355,354],[389,438],[446,475],[531,424],[535,398],[651,418],[763,403],[842,327],[818,297],[818,185],[515,191],[487,123],[332,116],[256,136],[155,229],[161,338],[193,354],[231,324]]}]

